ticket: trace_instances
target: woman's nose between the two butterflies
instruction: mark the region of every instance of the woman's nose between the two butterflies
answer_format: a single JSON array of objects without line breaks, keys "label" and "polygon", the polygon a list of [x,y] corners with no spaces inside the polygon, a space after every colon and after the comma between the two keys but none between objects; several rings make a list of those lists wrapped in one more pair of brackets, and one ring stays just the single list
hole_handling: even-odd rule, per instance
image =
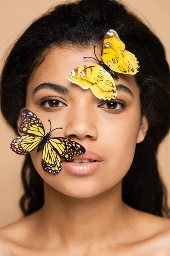
[{"label": "woman's nose between the two butterflies", "polygon": [[89,137],[96,140],[98,137],[97,120],[95,111],[86,106],[72,109],[65,122],[65,137],[72,140],[82,140]]}]

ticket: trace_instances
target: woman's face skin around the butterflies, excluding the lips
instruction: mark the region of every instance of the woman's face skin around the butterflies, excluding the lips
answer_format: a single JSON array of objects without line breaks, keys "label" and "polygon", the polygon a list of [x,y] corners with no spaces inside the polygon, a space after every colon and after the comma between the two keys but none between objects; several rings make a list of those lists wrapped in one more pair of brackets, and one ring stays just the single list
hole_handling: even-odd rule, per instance
[{"label": "woman's face skin around the butterflies, excluding the lips", "polygon": [[[96,48],[96,55],[100,56],[99,48]],[[42,169],[42,151],[31,152],[34,166],[46,183],[65,195],[79,198],[88,198],[121,184],[133,161],[136,143],[145,135],[134,76],[118,74],[119,80],[114,79],[117,86],[123,84],[117,87],[114,103],[113,99],[109,103],[96,98],[90,89],[84,90],[68,81],[68,73],[76,67],[98,64],[93,59],[83,59],[84,56],[94,57],[93,46],[51,49],[34,70],[26,97],[26,108],[40,118],[45,133],[50,130],[50,119],[52,129],[62,127],[53,131],[51,137],[70,138],[101,156],[102,164],[91,174],[75,175],[62,166],[61,172],[53,175]],[[70,93],[39,86],[47,82],[65,87]],[[35,90],[37,87],[39,90]]]}]

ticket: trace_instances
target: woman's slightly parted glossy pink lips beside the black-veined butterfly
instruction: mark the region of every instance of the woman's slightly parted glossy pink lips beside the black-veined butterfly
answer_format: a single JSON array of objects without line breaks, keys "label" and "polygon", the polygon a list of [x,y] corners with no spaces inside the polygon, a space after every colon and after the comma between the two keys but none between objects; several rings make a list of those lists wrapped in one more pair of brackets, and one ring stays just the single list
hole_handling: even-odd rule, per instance
[{"label": "woman's slightly parted glossy pink lips beside the black-veined butterfly", "polygon": [[76,175],[88,175],[94,173],[97,169],[99,169],[104,161],[102,160],[102,157],[96,154],[93,151],[86,151],[85,154],[81,154],[78,156],[73,157],[73,159],[91,159],[96,160],[96,162],[92,163],[74,163],[69,161],[62,161],[63,168]]}]

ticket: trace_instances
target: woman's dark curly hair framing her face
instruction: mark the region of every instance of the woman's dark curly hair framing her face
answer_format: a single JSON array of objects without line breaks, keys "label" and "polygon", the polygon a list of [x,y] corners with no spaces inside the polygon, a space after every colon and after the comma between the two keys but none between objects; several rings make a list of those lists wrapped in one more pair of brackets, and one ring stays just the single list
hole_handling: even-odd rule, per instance
[{"label": "woman's dark curly hair framing her face", "polygon": [[[1,111],[17,131],[17,118],[25,107],[26,87],[32,72],[44,61],[51,47],[67,44],[89,47],[102,44],[114,29],[126,49],[136,55],[140,70],[141,113],[149,128],[136,145],[133,163],[122,181],[122,200],[133,208],[170,218],[167,190],[159,175],[156,153],[170,129],[170,69],[159,38],[116,0],[79,0],[49,9],[34,20],[17,39],[1,74]],[[43,180],[30,154],[22,169],[25,194],[20,200],[24,215],[44,204]]]}]

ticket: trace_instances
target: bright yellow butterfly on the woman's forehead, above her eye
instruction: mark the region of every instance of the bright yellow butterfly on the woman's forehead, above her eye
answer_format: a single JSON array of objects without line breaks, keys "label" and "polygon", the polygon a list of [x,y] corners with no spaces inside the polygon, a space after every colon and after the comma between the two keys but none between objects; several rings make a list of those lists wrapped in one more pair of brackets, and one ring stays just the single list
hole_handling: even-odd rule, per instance
[{"label": "bright yellow butterfly on the woman's forehead, above her eye", "polygon": [[[94,55],[96,56],[95,46]],[[119,79],[115,72],[135,75],[139,72],[139,61],[133,53],[125,50],[125,44],[113,29],[108,30],[103,38],[101,58],[102,61],[97,56],[92,58],[99,65],[88,64],[72,70],[68,74],[68,80],[85,90],[90,88],[99,99],[115,99],[117,91],[113,77]]]}]

